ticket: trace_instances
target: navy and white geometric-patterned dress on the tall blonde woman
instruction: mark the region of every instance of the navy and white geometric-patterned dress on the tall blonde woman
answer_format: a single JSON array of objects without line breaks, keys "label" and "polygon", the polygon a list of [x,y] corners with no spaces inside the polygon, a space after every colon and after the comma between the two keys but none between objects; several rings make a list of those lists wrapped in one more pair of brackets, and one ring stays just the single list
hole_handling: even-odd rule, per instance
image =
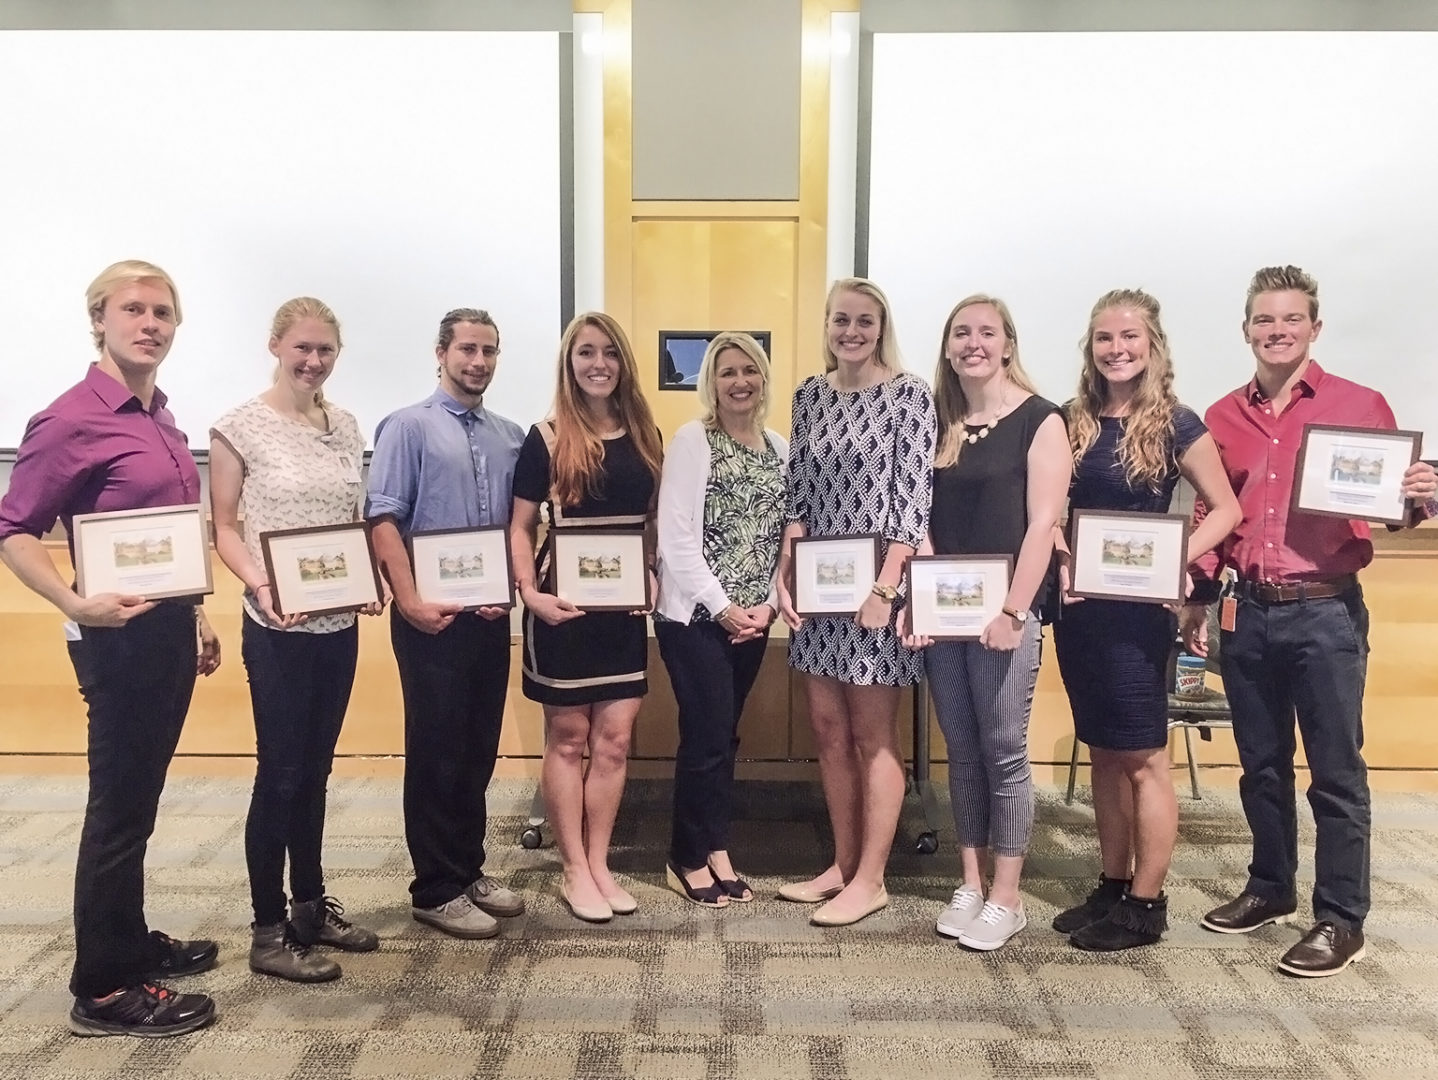
[{"label": "navy and white geometric-patterned dress on the tall blonde woman", "polygon": [[[858,391],[824,375],[794,391],[787,516],[810,536],[877,532],[917,548],[933,492],[933,397],[907,372]],[[897,613],[896,613],[897,614]],[[913,686],[919,653],[899,644],[893,620],[866,630],[851,617],[805,618],[789,639],[789,666],[856,686]]]}]

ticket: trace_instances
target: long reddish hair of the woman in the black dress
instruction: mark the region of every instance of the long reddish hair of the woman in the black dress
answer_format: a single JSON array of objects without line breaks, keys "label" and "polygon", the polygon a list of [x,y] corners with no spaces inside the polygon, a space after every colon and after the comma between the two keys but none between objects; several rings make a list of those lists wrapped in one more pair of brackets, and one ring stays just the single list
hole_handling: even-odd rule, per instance
[{"label": "long reddish hair of the woman in the black dress", "polygon": [[554,394],[555,441],[549,462],[549,495],[561,506],[574,506],[585,495],[601,495],[597,482],[604,466],[604,439],[584,406],[584,391],[580,390],[574,365],[569,362],[574,341],[585,326],[594,326],[608,337],[620,352],[620,380],[614,387],[620,427],[634,440],[634,449],[654,477],[656,490],[659,470],[664,462],[659,426],[654,423],[649,401],[640,393],[638,364],[634,361],[634,349],[624,329],[601,311],[575,315],[559,339],[559,371]]}]

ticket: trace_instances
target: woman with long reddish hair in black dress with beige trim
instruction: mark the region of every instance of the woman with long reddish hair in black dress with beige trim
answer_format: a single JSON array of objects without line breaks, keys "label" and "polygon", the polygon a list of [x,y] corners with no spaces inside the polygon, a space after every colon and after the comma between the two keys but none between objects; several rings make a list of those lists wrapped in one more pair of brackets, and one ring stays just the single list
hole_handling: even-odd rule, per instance
[{"label": "woman with long reddish hair in black dress with beige trim", "polygon": [[[587,922],[637,907],[610,873],[608,851],[649,692],[647,613],[585,614],[557,597],[549,538],[555,529],[651,532],[661,460],[628,338],[608,315],[575,316],[559,342],[554,417],[529,429],[515,465],[509,535],[526,608],[523,689],[545,716],[541,787],[564,860],[559,894]],[[549,532],[536,557],[541,508]]]}]

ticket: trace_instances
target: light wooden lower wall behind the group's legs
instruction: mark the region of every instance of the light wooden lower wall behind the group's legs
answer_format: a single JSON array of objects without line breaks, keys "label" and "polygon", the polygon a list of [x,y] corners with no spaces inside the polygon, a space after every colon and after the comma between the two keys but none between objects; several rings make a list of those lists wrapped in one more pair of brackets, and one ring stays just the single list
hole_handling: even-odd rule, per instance
[{"label": "light wooden lower wall behind the group's legs", "polygon": [[[63,548],[52,555],[69,567]],[[194,706],[180,742],[187,755],[250,755],[255,732],[249,690],[240,660],[237,587],[216,561],[219,591],[206,605],[220,633],[224,664],[196,687]],[[1365,733],[1369,765],[1379,769],[1438,769],[1438,557],[1379,557],[1363,574],[1372,613]],[[398,676],[390,651],[388,615],[361,620],[360,669],[349,716],[339,739],[341,755],[385,758],[404,752]],[[787,641],[777,631],[741,720],[741,756],[764,762],[812,761],[814,741],[798,676],[787,664]],[[1215,679],[1215,676],[1209,676]],[[1221,683],[1219,683],[1221,685]],[[900,705],[900,732],[912,743],[912,700]],[[943,738],[930,709],[930,746],[946,759]],[[669,676],[650,643],[650,696],[640,712],[636,756],[667,759],[677,743]],[[1051,641],[1034,693],[1030,754],[1035,762],[1066,765],[1073,748],[1068,700],[1058,679]],[[0,569],[0,755],[78,755],[85,751],[85,706],[65,651],[60,618],[45,601]],[[1214,732],[1195,743],[1204,765],[1237,765],[1232,735]],[[538,758],[544,752],[544,718],[519,687],[519,640],[509,677],[509,700],[500,754]],[[1087,755],[1083,756],[1087,761]],[[1183,762],[1182,738],[1173,739],[1175,764]],[[810,771],[812,774],[812,769]],[[1061,775],[1058,769],[1057,775]],[[1047,774],[1045,774],[1047,775]]]}]

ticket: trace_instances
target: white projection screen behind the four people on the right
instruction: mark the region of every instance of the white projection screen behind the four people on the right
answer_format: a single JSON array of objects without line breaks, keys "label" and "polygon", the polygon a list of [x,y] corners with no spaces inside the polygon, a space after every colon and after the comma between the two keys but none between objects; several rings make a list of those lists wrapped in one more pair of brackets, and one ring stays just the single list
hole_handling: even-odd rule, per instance
[{"label": "white projection screen behind the four people on the right", "polygon": [[1435,33],[876,35],[869,272],[916,372],[989,292],[1057,401],[1093,302],[1143,288],[1202,414],[1252,374],[1252,272],[1296,263],[1313,355],[1438,457],[1435,101]]}]

